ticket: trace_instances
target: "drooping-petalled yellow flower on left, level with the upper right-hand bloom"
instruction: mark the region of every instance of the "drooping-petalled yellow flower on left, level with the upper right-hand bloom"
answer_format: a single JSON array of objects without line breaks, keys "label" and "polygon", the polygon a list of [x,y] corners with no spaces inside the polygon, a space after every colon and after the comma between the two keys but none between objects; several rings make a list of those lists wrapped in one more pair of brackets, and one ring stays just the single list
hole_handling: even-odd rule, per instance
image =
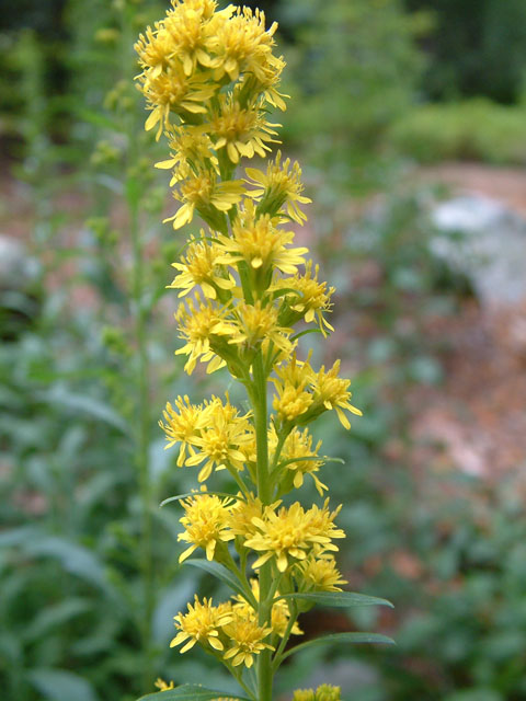
[{"label": "drooping-petalled yellow flower on left, level with the upper right-hand bloom", "polygon": [[173,221],[173,228],[180,229],[185,223],[190,223],[197,209],[203,219],[214,229],[221,229],[221,215],[231,209],[240,199],[243,193],[241,181],[232,180],[218,182],[217,174],[213,170],[202,170],[192,173],[179,186],[179,191],[173,192],[173,196],[182,206],[173,217],[163,220]]}]

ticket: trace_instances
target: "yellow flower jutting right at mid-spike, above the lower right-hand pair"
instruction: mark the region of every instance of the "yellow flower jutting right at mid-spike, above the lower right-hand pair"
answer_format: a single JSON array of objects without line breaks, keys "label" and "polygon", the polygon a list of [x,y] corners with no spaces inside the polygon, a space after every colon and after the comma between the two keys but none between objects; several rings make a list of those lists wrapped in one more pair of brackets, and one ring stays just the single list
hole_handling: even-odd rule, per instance
[{"label": "yellow flower jutting right at mid-spike, above the lower right-hand pair", "polygon": [[[273,286],[273,289],[286,288],[298,292],[298,295],[287,295],[286,300],[289,309],[299,314],[300,318],[302,317],[307,323],[312,323],[318,319],[320,331],[327,336],[325,330],[334,331],[334,329],[323,317],[323,313],[331,311],[330,299],[334,292],[334,287],[328,288],[327,283],[319,283],[318,271],[319,266],[317,265],[312,275],[312,263],[309,261],[305,266],[305,275],[278,280]],[[290,315],[290,312],[288,315]],[[295,322],[296,319],[294,317],[291,319],[286,317],[286,323],[293,324]]]}]

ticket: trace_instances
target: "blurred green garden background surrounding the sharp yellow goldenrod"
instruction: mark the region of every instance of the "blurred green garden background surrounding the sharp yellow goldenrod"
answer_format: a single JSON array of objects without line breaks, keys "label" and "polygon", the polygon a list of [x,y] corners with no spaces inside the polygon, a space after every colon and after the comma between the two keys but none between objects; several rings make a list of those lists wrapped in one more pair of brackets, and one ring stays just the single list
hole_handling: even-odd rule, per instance
[{"label": "blurred green garden background surrounding the sharp yellow goldenrod", "polygon": [[[364,410],[350,433],[318,426],[345,460],[323,475],[341,568],[396,605],[304,628],[397,641],[306,651],[276,698],[329,681],[359,701],[524,700],[526,3],[258,4],[281,24],[283,150],[313,199],[298,237],[338,289],[312,347]],[[181,514],[158,505],[194,473],[157,421],[228,378],[188,380],[173,356],[184,238],[160,223],[164,145],[133,84],[167,4],[0,7],[2,699],[126,701],[159,675],[228,690],[168,648],[194,590],[221,590],[176,564]]]}]

